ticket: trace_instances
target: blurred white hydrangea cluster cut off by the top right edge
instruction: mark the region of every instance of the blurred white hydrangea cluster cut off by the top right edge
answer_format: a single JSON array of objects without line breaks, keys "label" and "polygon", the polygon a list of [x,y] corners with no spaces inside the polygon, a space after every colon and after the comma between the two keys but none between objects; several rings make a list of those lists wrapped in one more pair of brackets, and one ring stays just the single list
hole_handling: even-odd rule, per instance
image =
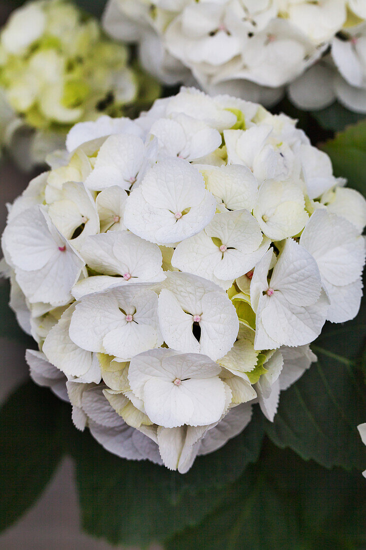
[{"label": "blurred white hydrangea cluster cut off by the top right edge", "polygon": [[364,0],[109,0],[104,27],[167,84],[366,113],[365,19]]}]

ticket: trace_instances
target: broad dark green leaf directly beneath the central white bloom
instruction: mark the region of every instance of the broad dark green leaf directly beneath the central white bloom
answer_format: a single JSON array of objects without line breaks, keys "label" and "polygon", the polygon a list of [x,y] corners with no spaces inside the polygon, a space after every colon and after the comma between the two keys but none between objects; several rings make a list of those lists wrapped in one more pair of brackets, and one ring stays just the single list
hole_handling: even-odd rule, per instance
[{"label": "broad dark green leaf directly beneath the central white bloom", "polygon": [[251,424],[224,448],[196,460],[187,474],[149,461],[130,461],[107,453],[90,436],[76,436],[82,526],[93,536],[117,544],[149,544],[196,525],[225,496],[225,484],[258,458],[263,438],[258,411]]}]

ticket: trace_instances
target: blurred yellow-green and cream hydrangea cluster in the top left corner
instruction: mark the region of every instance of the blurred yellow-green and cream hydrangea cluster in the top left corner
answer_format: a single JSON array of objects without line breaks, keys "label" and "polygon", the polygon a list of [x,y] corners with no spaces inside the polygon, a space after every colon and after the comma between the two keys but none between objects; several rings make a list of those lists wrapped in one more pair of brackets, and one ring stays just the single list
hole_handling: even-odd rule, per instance
[{"label": "blurred yellow-green and cream hydrangea cluster in the top left corner", "polygon": [[147,77],[127,66],[128,56],[67,0],[16,9],[0,33],[2,144],[29,168],[62,147],[76,122],[121,116],[137,99],[149,103],[149,94],[152,102],[158,86],[152,79],[144,85]]}]

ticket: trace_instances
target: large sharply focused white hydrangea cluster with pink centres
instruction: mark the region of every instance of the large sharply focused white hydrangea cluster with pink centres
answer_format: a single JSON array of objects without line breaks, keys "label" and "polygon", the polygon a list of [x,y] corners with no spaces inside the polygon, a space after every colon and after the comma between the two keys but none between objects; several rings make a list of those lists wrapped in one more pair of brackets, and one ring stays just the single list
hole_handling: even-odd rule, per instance
[{"label": "large sharply focused white hydrangea cluster with pink centres", "polygon": [[295,120],[192,88],[66,148],[2,237],[31,375],[111,452],[186,472],[357,314],[366,201]]}]

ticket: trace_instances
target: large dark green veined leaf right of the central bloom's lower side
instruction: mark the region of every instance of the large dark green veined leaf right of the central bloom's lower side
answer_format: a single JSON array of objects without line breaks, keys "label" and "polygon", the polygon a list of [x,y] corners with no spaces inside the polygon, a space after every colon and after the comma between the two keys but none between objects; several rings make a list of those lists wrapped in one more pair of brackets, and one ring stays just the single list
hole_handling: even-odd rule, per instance
[{"label": "large dark green veined leaf right of the central bloom's lower side", "polygon": [[366,447],[357,425],[366,420],[365,299],[353,321],[327,323],[312,345],[317,363],[281,394],[274,422],[265,430],[279,447],[290,447],[319,464],[363,470]]}]

